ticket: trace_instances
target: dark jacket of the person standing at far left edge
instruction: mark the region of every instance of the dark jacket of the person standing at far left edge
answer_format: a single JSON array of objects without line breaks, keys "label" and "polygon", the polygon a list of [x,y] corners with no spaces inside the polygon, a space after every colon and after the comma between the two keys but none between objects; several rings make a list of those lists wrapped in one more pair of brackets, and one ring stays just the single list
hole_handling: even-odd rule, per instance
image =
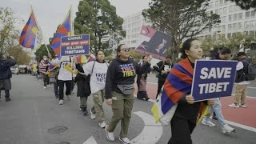
[{"label": "dark jacket of the person standing at far left edge", "polygon": [[0,60],[0,79],[9,79],[12,74],[10,66],[14,66],[16,61],[14,59]]}]

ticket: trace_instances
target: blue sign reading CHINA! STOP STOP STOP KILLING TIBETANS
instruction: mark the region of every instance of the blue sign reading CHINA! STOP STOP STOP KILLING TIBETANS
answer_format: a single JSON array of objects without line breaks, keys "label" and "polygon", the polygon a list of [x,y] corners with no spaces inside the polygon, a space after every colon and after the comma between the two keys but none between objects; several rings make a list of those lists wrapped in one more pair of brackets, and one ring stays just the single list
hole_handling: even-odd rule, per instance
[{"label": "blue sign reading CHINA! STOP STOP STOP KILLING TIBETANS", "polygon": [[61,56],[90,54],[90,35],[62,37]]}]

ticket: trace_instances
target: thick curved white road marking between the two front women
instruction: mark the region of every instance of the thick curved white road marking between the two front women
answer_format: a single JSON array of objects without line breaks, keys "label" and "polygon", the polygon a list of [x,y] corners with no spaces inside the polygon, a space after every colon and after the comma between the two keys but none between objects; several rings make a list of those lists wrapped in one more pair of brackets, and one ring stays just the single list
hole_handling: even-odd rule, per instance
[{"label": "thick curved white road marking between the two front women", "polygon": [[130,143],[146,143],[155,144],[162,136],[162,125],[161,123],[155,123],[154,117],[150,114],[146,114],[142,111],[134,112],[138,117],[142,118],[145,123],[144,129],[141,134],[130,141]]}]

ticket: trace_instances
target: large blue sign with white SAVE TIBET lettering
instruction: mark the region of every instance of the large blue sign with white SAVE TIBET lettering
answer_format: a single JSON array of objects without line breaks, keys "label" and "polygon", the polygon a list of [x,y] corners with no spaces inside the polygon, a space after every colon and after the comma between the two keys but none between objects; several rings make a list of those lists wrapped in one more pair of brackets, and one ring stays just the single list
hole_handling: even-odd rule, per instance
[{"label": "large blue sign with white SAVE TIBET lettering", "polygon": [[194,65],[194,101],[228,97],[232,94],[237,61],[198,60]]}]

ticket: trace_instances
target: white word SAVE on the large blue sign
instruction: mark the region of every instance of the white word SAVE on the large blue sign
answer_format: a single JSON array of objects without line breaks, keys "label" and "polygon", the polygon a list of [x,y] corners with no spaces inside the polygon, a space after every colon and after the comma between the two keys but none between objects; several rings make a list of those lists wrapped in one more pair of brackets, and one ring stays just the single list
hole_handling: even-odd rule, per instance
[{"label": "white word SAVE on the large blue sign", "polygon": [[209,69],[207,67],[203,67],[201,70],[201,79],[210,79],[210,78],[230,78],[231,67],[213,67]]}]

